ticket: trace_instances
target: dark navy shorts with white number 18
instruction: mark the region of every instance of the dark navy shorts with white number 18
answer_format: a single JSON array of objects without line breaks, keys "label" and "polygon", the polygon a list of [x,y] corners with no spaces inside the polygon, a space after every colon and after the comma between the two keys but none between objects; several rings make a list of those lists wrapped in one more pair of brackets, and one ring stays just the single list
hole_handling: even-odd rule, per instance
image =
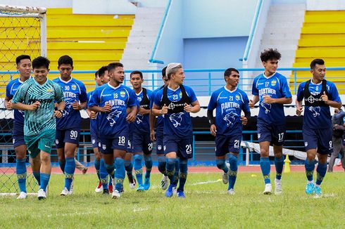
[{"label": "dark navy shorts with white number 18", "polygon": [[99,138],[101,147],[100,152],[103,155],[110,155],[113,150],[127,150],[128,136],[116,136],[115,138]]}]

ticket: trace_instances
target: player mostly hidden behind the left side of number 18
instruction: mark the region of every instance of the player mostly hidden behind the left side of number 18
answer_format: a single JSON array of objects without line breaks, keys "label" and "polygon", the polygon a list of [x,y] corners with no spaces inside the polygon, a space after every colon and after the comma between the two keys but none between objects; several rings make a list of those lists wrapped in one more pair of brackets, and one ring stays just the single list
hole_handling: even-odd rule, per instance
[{"label": "player mostly hidden behind the left side of number 18", "polygon": [[[94,76],[94,80],[96,81],[97,86],[107,84],[110,80],[108,75],[108,66],[99,68]],[[94,91],[90,91],[89,93],[87,93],[88,100],[90,100],[93,92]],[[108,183],[108,173],[104,165],[104,159],[101,158],[101,153],[99,152],[99,136],[96,122],[97,114],[96,112],[92,112],[89,109],[87,109],[87,113],[90,117],[90,135],[92,148],[94,149],[94,167],[96,169],[97,177],[99,178],[99,185],[97,185],[94,191],[103,192],[103,194],[109,194],[109,192],[113,192],[113,185],[111,185],[111,176]]]}]

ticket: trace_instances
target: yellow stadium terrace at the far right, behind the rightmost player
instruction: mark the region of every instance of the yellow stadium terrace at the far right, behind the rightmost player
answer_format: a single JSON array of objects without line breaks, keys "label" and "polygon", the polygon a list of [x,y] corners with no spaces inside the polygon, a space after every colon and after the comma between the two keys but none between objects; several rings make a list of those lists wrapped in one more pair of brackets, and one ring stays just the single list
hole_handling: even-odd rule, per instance
[{"label": "yellow stadium terrace at the far right, behind the rightmost player", "polygon": [[[294,67],[309,67],[322,58],[326,67],[345,66],[345,11],[306,11]],[[345,93],[345,70],[327,71],[327,79]],[[297,72],[297,84],[311,78],[308,71]]]}]

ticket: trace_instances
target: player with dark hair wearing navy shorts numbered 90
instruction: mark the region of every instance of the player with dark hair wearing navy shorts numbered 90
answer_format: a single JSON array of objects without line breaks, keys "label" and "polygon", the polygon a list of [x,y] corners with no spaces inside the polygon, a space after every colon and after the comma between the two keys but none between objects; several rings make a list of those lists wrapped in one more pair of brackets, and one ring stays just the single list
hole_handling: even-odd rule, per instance
[{"label": "player with dark hair wearing navy shorts numbered 90", "polygon": [[87,107],[87,92],[82,81],[71,77],[73,59],[69,55],[58,58],[60,77],[53,81],[63,89],[65,109],[63,117],[56,121],[56,151],[58,164],[65,174],[65,186],[61,195],[73,194],[73,176],[75,173],[75,150],[79,145],[82,117],[80,110]]}]

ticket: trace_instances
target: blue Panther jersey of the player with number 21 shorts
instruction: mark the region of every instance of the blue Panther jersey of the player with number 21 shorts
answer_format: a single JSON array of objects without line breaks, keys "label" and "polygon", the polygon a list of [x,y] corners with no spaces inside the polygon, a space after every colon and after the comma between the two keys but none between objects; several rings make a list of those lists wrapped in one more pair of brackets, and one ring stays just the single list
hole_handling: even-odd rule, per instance
[{"label": "blue Panther jersey of the player with number 21 shorts", "polygon": [[208,110],[215,109],[217,135],[230,136],[242,133],[241,112],[250,112],[249,99],[240,89],[230,91],[225,86],[214,91]]}]

